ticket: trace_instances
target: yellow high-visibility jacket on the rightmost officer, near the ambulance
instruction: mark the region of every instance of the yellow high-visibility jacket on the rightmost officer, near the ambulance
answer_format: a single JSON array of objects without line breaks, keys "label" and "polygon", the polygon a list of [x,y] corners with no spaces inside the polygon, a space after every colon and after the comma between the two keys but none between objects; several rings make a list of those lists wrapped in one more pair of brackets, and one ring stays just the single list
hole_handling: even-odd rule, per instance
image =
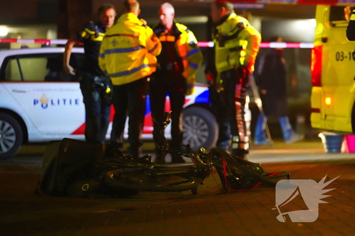
[{"label": "yellow high-visibility jacket on the rightmost officer, near the ambulance", "polygon": [[215,42],[215,63],[219,75],[239,66],[246,67],[250,72],[254,71],[261,35],[245,18],[230,13],[216,26],[212,37]]}]

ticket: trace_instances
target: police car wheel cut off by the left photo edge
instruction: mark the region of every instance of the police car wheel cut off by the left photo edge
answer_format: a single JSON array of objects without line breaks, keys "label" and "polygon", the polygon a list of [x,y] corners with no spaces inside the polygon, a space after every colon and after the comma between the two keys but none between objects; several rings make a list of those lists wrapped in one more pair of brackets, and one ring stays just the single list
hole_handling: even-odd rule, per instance
[{"label": "police car wheel cut off by the left photo edge", "polygon": [[11,115],[0,113],[0,158],[14,156],[22,144],[20,123]]}]

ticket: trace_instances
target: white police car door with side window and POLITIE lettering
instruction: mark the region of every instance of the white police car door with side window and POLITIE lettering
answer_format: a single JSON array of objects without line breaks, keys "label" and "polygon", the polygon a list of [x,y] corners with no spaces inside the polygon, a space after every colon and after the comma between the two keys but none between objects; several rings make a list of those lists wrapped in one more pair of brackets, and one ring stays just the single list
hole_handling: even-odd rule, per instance
[{"label": "white police car door with side window and POLITIE lettering", "polygon": [[63,71],[62,57],[62,53],[10,56],[2,67],[4,86],[34,126],[58,138],[72,134],[85,122],[79,83]]}]

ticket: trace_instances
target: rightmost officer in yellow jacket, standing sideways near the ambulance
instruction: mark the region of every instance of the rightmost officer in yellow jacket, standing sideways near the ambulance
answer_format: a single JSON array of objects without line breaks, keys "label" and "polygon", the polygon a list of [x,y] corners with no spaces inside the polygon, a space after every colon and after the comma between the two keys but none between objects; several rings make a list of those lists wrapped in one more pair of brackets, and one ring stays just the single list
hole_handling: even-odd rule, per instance
[{"label": "rightmost officer in yellow jacket, standing sideways near the ambulance", "polygon": [[[228,142],[230,128],[231,153],[245,158],[248,153],[244,120],[245,96],[249,87],[248,75],[254,70],[261,36],[245,18],[234,13],[233,4],[228,1],[212,3],[211,18],[214,22],[212,37],[216,52],[215,87],[225,109],[225,117],[220,122],[219,139],[221,143]],[[229,127],[225,121],[228,121]]]}]

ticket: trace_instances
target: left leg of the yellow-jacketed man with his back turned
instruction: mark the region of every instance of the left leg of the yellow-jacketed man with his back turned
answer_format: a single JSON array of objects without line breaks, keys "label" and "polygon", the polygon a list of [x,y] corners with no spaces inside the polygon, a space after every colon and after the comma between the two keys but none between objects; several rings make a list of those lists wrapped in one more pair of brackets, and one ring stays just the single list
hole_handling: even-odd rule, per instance
[{"label": "left leg of the yellow-jacketed man with his back turned", "polygon": [[128,98],[127,85],[115,85],[113,104],[115,115],[112,123],[110,144],[116,148],[123,148],[123,132],[127,117]]}]

